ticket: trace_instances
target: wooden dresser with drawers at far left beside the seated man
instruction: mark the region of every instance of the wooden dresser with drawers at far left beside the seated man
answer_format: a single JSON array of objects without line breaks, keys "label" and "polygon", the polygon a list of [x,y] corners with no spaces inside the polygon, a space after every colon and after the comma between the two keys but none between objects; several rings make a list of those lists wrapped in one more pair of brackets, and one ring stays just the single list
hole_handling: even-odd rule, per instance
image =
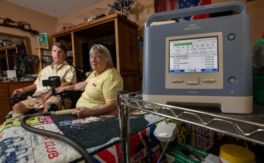
[{"label": "wooden dresser with drawers at far left beside the seated man", "polygon": [[33,83],[34,81],[0,82],[0,124],[4,123],[4,117],[11,111],[9,99],[13,91],[18,88],[27,87]]}]

